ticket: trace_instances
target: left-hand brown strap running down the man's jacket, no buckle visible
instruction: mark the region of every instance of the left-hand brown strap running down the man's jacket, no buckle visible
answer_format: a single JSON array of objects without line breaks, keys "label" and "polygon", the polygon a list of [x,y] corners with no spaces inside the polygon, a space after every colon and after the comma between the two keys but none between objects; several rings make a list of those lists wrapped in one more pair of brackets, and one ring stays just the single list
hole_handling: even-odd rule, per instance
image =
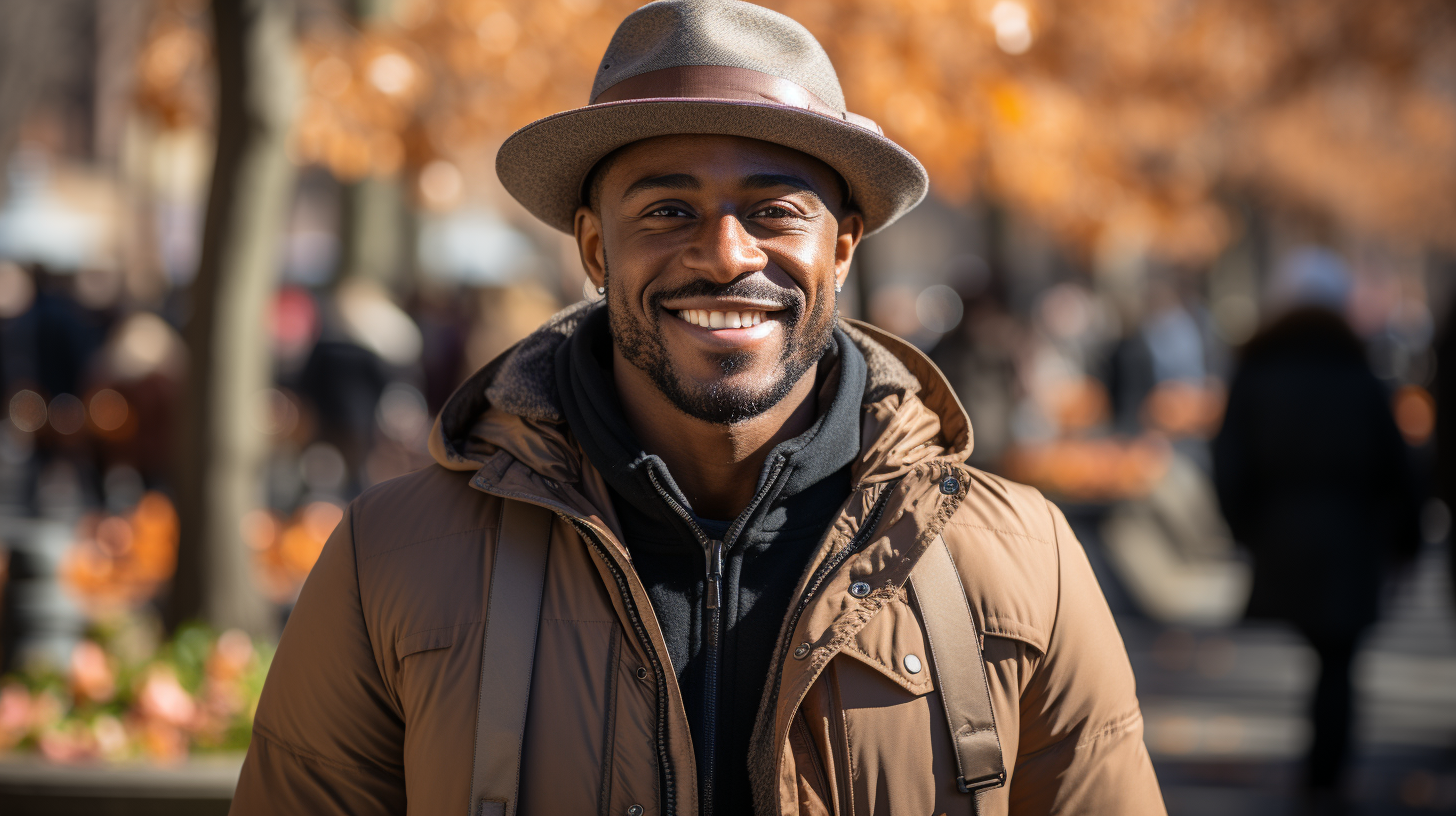
[{"label": "left-hand brown strap running down the man's jacket, no buckle visible", "polygon": [[515,816],[552,513],[504,500],[491,560],[469,816]]}]

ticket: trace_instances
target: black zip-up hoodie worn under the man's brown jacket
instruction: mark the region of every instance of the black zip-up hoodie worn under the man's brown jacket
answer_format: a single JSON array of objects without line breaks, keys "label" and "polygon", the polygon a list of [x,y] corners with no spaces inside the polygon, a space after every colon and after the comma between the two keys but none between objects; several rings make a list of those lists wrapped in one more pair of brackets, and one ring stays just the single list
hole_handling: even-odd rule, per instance
[{"label": "black zip-up hoodie worn under the man's brown jacket", "polygon": [[[642,450],[628,425],[612,379],[606,309],[593,310],[556,351],[566,423],[607,482],[623,544],[667,640],[693,733],[703,813],[753,812],[747,755],[754,717],[794,589],[850,493],[865,377],[865,357],[836,328],[815,383],[827,408],[807,431],[769,452],[738,519],[712,520],[693,513],[662,460]],[[718,603],[709,586],[715,551],[722,564]]]}]

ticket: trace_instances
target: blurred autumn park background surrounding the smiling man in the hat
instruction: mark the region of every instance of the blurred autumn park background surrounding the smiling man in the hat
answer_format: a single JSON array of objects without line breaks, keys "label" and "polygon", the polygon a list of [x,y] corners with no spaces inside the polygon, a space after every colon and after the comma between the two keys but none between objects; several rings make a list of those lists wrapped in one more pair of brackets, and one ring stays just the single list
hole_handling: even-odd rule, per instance
[{"label": "blurred autumn park background surrounding the smiling man in the hat", "polygon": [[[1456,7],[766,4],[930,170],[843,310],[1072,517],[1169,812],[1307,806],[1324,659],[1344,807],[1456,813]],[[584,297],[495,149],[635,6],[0,3],[0,809],[226,812],[342,507]]]}]

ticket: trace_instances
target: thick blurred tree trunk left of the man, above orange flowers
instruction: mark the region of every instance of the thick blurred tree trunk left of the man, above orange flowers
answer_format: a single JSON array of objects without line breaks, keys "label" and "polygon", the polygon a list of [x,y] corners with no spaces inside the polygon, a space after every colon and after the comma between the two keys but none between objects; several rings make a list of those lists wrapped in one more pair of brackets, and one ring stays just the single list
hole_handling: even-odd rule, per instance
[{"label": "thick blurred tree trunk left of the man, above orange flowers", "polygon": [[191,291],[181,430],[178,573],[166,622],[274,628],[252,584],[243,517],[262,495],[255,412],[271,380],[266,307],[293,194],[284,154],[297,95],[293,0],[213,0],[217,157]]}]

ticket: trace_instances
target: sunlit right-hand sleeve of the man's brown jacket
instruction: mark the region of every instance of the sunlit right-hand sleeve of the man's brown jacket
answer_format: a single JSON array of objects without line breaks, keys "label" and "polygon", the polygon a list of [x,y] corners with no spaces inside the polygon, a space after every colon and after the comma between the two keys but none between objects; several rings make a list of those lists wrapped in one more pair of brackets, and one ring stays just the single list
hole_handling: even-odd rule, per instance
[{"label": "sunlit right-hand sleeve of the man's brown jacket", "polygon": [[1165,816],[1123,637],[1066,517],[1047,507],[1059,564],[1056,624],[1021,695],[1010,813]]}]

